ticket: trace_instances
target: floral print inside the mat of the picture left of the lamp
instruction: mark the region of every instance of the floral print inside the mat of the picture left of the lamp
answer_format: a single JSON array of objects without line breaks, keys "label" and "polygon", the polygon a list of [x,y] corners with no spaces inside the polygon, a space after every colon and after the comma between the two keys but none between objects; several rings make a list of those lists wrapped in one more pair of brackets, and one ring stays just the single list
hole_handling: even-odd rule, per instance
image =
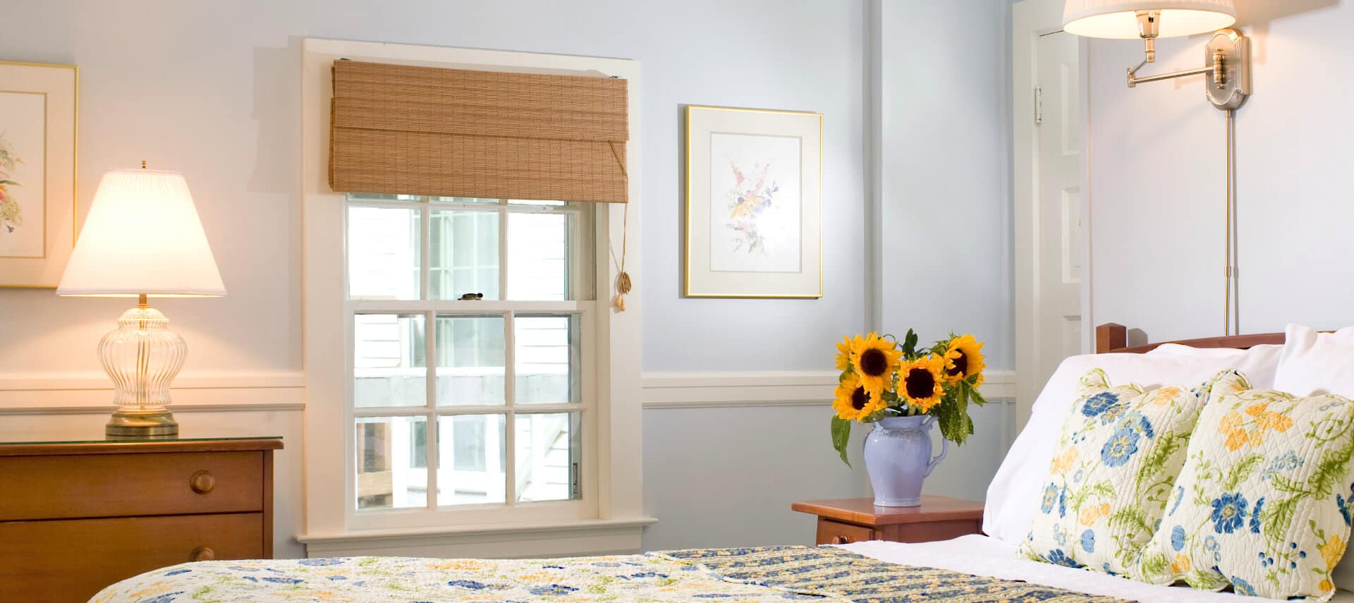
[{"label": "floral print inside the mat of the picture left of the lamp", "polygon": [[0,92],[0,257],[42,257],[46,95]]}]

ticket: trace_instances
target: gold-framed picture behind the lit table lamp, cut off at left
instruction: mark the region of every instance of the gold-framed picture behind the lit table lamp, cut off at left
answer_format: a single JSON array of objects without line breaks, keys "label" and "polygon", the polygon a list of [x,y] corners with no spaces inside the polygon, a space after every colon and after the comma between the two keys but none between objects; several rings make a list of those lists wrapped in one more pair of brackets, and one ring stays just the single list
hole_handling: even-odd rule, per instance
[{"label": "gold-framed picture behind the lit table lamp, cut off at left", "polygon": [[0,287],[56,287],[76,240],[74,65],[0,61]]}]

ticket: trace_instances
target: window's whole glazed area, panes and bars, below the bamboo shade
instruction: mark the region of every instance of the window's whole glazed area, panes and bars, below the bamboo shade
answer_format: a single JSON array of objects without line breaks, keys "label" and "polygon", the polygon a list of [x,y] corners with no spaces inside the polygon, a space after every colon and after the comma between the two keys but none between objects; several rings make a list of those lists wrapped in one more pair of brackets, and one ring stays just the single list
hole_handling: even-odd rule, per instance
[{"label": "window's whole glazed area, panes and bars, below the bamboo shade", "polygon": [[596,508],[593,211],[347,195],[352,511]]}]

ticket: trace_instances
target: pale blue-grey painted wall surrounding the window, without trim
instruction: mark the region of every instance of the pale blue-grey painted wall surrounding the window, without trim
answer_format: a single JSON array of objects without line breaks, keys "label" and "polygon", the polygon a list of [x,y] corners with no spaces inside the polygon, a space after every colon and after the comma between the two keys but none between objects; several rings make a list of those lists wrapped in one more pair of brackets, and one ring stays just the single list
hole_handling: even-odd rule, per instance
[{"label": "pale blue-grey painted wall surrounding the window, without trim", "polygon": [[[884,19],[867,27],[869,1],[883,3],[876,9]],[[188,178],[230,295],[158,304],[190,341],[185,375],[294,381],[302,370],[305,37],[638,60],[645,255],[630,262],[642,262],[647,275],[636,283],[645,290],[646,373],[823,370],[833,343],[865,328],[868,302],[888,331],[971,331],[990,341],[991,366],[1011,365],[1005,0],[11,4],[5,22],[23,26],[0,37],[0,58],[80,65],[83,210],[110,168],[145,159]],[[867,31],[880,35],[879,50]],[[887,75],[871,81],[872,65],[880,73],[887,65]],[[825,114],[822,299],[678,295],[678,117],[686,103]],[[884,112],[881,137],[871,134],[869,107]],[[875,144],[886,176],[879,190],[867,184]],[[876,266],[881,287],[867,282],[867,191],[881,195],[880,230],[891,237]],[[0,290],[0,378],[100,374],[95,343],[126,305]],[[929,492],[982,497],[1009,442],[1005,413],[1001,405],[979,411],[979,438],[952,453]],[[297,427],[264,420],[267,413],[233,416],[238,428],[290,436],[278,480],[299,484]],[[646,547],[811,539],[812,522],[791,514],[791,501],[868,493],[860,462],[852,472],[831,451],[827,416],[826,401],[646,411],[646,507],[659,519]],[[185,430],[217,424],[203,413],[180,419]],[[79,420],[102,417],[3,419],[22,434],[73,430]],[[299,556],[286,541],[298,527],[298,491],[279,488],[278,496],[278,554]]]}]

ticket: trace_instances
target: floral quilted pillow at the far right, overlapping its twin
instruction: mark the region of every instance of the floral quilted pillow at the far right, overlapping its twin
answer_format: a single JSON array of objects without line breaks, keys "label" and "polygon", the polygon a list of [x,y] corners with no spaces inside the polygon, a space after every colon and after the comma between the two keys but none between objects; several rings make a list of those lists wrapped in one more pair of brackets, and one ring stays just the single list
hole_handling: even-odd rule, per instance
[{"label": "floral quilted pillow at the far right, overlapping its twin", "polygon": [[1351,457],[1350,400],[1254,390],[1239,377],[1220,381],[1135,577],[1330,599],[1331,570],[1350,535]]}]

